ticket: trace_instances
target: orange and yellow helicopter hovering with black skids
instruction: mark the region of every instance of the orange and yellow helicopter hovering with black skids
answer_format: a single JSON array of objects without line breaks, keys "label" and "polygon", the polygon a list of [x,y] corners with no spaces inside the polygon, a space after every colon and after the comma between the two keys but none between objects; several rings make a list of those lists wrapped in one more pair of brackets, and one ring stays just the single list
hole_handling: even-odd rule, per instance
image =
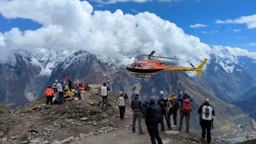
[{"label": "orange and yellow helicopter hovering with black skids", "polygon": [[[190,65],[192,68],[182,67],[182,66],[170,66],[164,65],[165,62],[160,62],[158,59],[151,59],[151,57],[156,58],[166,58],[166,57],[158,57],[153,54],[155,51],[152,51],[150,54],[144,55],[148,57],[148,59],[144,59],[143,61],[136,61],[132,63],[132,65],[127,66],[126,70],[132,72],[132,75],[137,78],[150,78],[155,79],[155,73],[161,71],[196,71],[198,76],[201,76],[201,71],[203,71],[203,66],[207,62],[208,59],[204,59],[203,62],[195,68],[192,63]],[[166,58],[166,59],[176,59],[176,58]]]}]

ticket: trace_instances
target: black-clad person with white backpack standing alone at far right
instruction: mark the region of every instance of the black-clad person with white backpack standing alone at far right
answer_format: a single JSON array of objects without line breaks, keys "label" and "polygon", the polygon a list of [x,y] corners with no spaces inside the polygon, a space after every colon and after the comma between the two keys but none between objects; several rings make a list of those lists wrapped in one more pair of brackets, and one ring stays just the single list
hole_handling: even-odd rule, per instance
[{"label": "black-clad person with white backpack standing alone at far right", "polygon": [[[211,140],[211,124],[213,121],[213,116],[215,115],[213,107],[209,104],[209,98],[204,99],[203,105],[198,109],[198,113],[201,114],[201,127],[202,127],[202,141],[205,141],[205,135],[207,138],[207,143],[210,143]],[[207,130],[207,133],[206,133]]]}]

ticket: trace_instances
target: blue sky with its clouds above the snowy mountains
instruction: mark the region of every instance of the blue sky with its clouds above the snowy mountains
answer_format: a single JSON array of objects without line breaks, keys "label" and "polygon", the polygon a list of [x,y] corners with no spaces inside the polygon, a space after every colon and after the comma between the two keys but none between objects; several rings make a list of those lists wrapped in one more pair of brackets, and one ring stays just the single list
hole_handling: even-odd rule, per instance
[{"label": "blue sky with its clouds above the snowy mountains", "polygon": [[181,64],[219,55],[212,45],[252,57],[255,5],[254,0],[0,0],[0,63],[14,58],[10,49],[38,47],[109,56],[156,50]]}]

